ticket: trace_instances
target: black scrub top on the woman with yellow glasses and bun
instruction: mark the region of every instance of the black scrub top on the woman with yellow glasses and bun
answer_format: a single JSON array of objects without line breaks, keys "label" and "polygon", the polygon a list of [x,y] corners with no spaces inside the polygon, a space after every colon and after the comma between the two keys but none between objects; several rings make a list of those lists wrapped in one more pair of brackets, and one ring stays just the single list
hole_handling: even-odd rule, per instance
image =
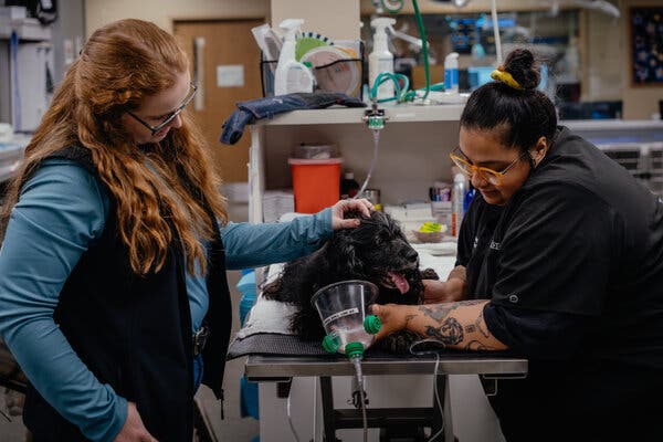
[{"label": "black scrub top on the woman with yellow glasses and bun", "polygon": [[588,407],[610,419],[624,389],[661,389],[663,201],[567,128],[506,206],[477,192],[456,264],[470,297],[491,299],[490,332],[529,360],[492,400],[503,429]]}]

